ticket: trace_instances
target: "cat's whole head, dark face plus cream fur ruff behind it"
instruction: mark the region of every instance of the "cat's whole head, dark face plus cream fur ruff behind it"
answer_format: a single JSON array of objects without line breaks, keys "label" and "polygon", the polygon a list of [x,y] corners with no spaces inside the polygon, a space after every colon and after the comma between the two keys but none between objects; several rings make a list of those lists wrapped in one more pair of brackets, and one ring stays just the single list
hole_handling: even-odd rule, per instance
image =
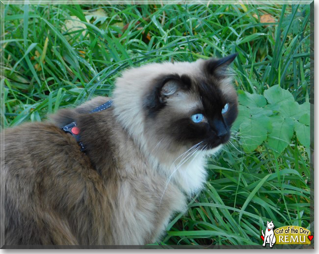
[{"label": "cat's whole head, dark face plus cream fur ruff behind it", "polygon": [[229,140],[238,113],[227,71],[236,56],[129,69],[116,82],[115,113],[153,153],[179,154],[194,146],[216,151]]}]

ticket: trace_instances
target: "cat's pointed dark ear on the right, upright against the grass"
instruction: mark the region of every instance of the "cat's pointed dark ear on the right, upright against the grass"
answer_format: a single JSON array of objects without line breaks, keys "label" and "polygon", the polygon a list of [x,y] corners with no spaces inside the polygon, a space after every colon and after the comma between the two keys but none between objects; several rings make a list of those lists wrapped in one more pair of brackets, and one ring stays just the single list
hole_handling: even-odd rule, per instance
[{"label": "cat's pointed dark ear on the right, upright against the grass", "polygon": [[235,60],[237,55],[238,53],[235,53],[223,58],[208,60],[208,63],[206,64],[207,71],[217,78],[227,76],[228,66]]}]

